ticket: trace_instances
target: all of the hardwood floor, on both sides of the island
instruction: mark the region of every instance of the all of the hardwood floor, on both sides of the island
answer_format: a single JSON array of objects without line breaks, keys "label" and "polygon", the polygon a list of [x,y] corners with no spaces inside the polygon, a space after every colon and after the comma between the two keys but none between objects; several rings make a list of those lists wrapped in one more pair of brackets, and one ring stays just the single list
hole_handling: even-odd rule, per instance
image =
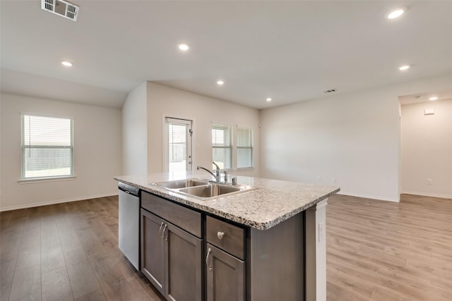
[{"label": "all of the hardwood floor, on both sides of the island", "polygon": [[[335,195],[326,214],[328,301],[452,300],[452,199]],[[163,300],[117,245],[117,197],[2,212],[0,300]]]}]

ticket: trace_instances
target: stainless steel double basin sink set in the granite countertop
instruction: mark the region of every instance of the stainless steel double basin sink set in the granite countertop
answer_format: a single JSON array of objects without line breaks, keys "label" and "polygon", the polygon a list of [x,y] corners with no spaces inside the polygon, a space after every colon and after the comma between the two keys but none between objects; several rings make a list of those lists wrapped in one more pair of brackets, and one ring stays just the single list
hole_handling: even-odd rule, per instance
[{"label": "stainless steel double basin sink set in the granite countertop", "polygon": [[177,192],[181,195],[189,197],[196,197],[198,199],[215,199],[216,197],[226,197],[239,192],[253,190],[254,188],[248,185],[227,185],[215,182],[209,182],[205,179],[186,179],[186,180],[171,180],[166,182],[153,183],[153,185],[165,188],[172,192]]}]

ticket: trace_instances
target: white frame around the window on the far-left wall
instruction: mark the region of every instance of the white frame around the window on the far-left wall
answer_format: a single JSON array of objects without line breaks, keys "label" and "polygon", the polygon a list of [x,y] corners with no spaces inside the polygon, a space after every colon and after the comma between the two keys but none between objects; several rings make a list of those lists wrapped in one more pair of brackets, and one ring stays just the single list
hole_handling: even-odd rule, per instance
[{"label": "white frame around the window on the far-left wall", "polygon": [[[59,118],[67,119],[71,125],[71,145],[70,146],[57,146],[57,145],[40,145],[40,146],[27,146],[25,145],[25,116],[42,117],[42,118]],[[66,180],[76,178],[75,164],[74,164],[74,117],[73,116],[59,116],[45,113],[31,113],[20,112],[20,180],[19,183],[28,182],[47,182],[52,180]],[[57,175],[57,176],[37,176],[37,177],[24,177],[25,176],[25,151],[26,149],[71,149],[71,166],[69,175]]]}]

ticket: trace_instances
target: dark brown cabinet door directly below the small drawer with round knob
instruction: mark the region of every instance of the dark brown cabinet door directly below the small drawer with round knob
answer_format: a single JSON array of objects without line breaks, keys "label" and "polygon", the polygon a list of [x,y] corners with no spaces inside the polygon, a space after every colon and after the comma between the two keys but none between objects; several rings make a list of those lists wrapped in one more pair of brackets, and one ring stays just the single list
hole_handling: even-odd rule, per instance
[{"label": "dark brown cabinet door directly below the small drawer with round knob", "polygon": [[207,300],[245,300],[244,262],[207,244]]}]

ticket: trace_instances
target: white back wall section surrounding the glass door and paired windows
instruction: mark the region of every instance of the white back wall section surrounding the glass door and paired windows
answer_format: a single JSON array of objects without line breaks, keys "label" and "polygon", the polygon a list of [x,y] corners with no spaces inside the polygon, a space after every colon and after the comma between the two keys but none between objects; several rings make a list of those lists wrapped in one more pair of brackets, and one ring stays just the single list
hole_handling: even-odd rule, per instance
[{"label": "white back wall section surrounding the glass door and paired windows", "polygon": [[[164,116],[186,118],[193,124],[193,155],[196,166],[212,166],[212,123],[242,125],[254,129],[254,169],[234,172],[243,176],[259,176],[259,112],[201,94],[148,82],[148,172],[163,170],[162,134]],[[207,173],[206,173],[207,175]]]}]

